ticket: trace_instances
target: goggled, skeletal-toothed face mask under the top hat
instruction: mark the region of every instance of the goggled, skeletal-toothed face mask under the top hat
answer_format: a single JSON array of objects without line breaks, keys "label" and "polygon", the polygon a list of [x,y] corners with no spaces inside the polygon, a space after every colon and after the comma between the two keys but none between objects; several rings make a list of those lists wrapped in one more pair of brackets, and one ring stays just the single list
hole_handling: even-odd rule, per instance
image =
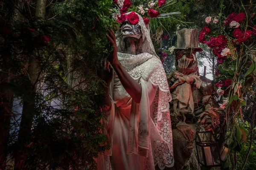
[{"label": "goggled, skeletal-toothed face mask under the top hat", "polygon": [[193,51],[192,48],[175,50],[176,69],[183,74],[191,74],[198,71],[198,62],[195,53],[196,51]]}]

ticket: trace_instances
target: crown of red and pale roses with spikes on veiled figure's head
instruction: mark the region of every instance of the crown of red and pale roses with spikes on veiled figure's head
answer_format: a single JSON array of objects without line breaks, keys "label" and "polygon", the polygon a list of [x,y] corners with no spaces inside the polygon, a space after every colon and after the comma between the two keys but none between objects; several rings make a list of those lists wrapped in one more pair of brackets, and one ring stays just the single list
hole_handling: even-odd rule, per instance
[{"label": "crown of red and pale roses with spikes on veiled figure's head", "polygon": [[[145,1],[147,3],[140,4],[139,6],[133,6],[133,3],[131,3],[130,0],[113,0],[113,3],[118,8],[119,12],[113,14],[113,18],[116,19],[117,22],[122,23],[126,19],[133,25],[136,25],[139,22],[138,15],[134,12],[137,11],[140,13],[143,17],[144,23],[147,26],[150,19],[153,18],[163,18],[168,17],[168,15],[171,14],[179,14],[180,12],[171,12],[166,14],[160,14],[159,11],[157,11],[160,7],[163,5],[169,6],[173,3],[172,0],[169,0],[166,2],[166,0],[157,0],[157,1]],[[168,4],[169,3],[169,4]],[[144,6],[148,6],[144,8]],[[130,14],[125,15],[126,12],[132,11]]]}]

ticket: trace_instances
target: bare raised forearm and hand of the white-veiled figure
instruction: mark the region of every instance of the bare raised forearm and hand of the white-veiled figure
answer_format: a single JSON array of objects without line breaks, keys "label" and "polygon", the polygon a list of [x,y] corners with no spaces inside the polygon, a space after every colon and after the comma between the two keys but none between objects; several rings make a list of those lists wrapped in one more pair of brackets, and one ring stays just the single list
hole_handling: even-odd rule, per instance
[{"label": "bare raised forearm and hand of the white-veiled figure", "polygon": [[128,74],[128,72],[125,71],[125,69],[122,67],[121,63],[117,58],[117,45],[115,33],[111,28],[108,30],[108,32],[108,40],[111,42],[111,45],[113,45],[113,51],[111,52],[111,55],[109,57],[109,62],[116,71],[116,74],[118,75],[118,78],[120,79],[120,82],[122,83],[127,93],[131,96],[132,99],[134,99],[136,103],[140,103],[142,92],[141,85],[136,80],[134,80]]}]

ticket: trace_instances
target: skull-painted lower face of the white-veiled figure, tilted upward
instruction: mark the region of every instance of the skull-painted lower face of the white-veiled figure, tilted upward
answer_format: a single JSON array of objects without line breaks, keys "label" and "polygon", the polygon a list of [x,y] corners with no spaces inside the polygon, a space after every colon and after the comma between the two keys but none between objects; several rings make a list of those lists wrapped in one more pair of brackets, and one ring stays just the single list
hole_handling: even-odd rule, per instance
[{"label": "skull-painted lower face of the white-veiled figure, tilted upward", "polygon": [[125,20],[122,23],[120,28],[121,30],[121,38],[124,40],[127,37],[133,37],[135,39],[140,39],[142,36],[141,27],[139,24],[132,25],[128,20]]}]

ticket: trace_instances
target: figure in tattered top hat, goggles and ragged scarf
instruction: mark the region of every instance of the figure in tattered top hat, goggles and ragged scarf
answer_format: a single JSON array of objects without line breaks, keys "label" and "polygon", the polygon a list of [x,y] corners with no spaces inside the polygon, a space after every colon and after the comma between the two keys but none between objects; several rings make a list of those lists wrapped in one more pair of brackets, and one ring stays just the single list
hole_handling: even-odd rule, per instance
[{"label": "figure in tattered top hat, goggles and ragged scarf", "polygon": [[[172,94],[170,108],[175,146],[173,170],[183,169],[189,160],[197,124],[204,125],[205,130],[213,130],[218,127],[219,115],[222,113],[214,98],[215,90],[211,80],[199,76],[196,52],[203,50],[198,47],[198,34],[197,29],[178,32],[177,48],[174,51],[176,70],[168,76]],[[186,168],[198,170],[196,158],[191,161],[194,161],[192,164],[195,167]]]}]

